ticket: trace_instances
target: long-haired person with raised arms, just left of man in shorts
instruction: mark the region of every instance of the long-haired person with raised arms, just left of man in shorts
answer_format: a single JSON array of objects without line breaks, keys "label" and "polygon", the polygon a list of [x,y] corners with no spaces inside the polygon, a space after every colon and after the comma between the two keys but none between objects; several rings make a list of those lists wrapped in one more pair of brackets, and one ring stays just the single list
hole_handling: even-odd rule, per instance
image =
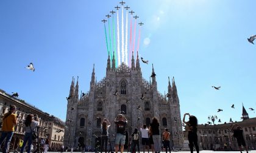
[{"label": "long-haired person with raised arms, just left of man in shorts", "polygon": [[110,127],[110,122],[107,118],[104,118],[101,123],[101,152],[105,144],[105,153],[107,153],[107,140],[108,140],[108,127]]}]

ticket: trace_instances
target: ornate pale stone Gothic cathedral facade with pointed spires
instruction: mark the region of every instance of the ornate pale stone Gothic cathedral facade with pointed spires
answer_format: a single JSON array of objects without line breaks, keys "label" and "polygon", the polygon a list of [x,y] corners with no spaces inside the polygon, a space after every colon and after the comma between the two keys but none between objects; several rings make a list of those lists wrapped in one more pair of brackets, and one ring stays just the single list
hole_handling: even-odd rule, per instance
[{"label": "ornate pale stone Gothic cathedral facade with pointed spires", "polygon": [[[136,61],[132,55],[130,67],[124,63],[115,67],[115,56],[110,61],[108,55],[105,77],[98,82],[95,78],[93,66],[90,90],[86,94],[81,93],[80,98],[78,78],[76,86],[74,78],[72,80],[67,98],[65,146],[74,148],[85,144],[94,148],[101,136],[101,122],[107,118],[111,123],[108,132],[113,148],[116,134],[114,120],[117,114],[124,114],[127,118],[126,143],[135,127],[140,129],[143,123],[149,126],[152,117],[157,117],[161,135],[167,128],[171,134],[171,146],[182,147],[180,104],[174,78],[171,83],[166,80],[168,97],[160,94],[156,77],[150,81],[142,77],[138,55]],[[144,98],[141,98],[142,95]]]}]

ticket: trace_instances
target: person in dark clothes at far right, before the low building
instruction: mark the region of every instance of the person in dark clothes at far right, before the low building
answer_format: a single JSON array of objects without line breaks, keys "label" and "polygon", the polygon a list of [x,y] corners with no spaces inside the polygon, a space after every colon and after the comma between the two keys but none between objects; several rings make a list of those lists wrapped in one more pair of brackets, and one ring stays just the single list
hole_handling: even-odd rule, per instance
[{"label": "person in dark clothes at far right, before the low building", "polygon": [[232,131],[234,132],[233,137],[236,138],[236,141],[238,143],[238,147],[239,147],[240,152],[242,152],[242,147],[241,146],[243,144],[244,148],[246,148],[246,152],[248,153],[248,148],[247,148],[246,143],[244,141],[242,127],[238,126],[238,124],[233,124]]}]

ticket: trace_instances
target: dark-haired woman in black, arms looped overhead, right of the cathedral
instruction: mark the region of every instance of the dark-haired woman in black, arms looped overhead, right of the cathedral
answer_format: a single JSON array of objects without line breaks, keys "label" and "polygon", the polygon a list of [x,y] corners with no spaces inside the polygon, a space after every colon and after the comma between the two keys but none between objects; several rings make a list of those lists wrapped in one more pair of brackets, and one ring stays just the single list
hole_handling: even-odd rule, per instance
[{"label": "dark-haired woman in black, arms looped overhead, right of the cathedral", "polygon": [[[190,117],[188,121],[185,121],[186,115]],[[195,146],[196,152],[198,153],[199,147],[197,144],[197,118],[193,115],[185,113],[183,117],[183,123],[187,125],[188,129],[188,142],[190,143],[190,152],[193,153],[193,148]]]}]

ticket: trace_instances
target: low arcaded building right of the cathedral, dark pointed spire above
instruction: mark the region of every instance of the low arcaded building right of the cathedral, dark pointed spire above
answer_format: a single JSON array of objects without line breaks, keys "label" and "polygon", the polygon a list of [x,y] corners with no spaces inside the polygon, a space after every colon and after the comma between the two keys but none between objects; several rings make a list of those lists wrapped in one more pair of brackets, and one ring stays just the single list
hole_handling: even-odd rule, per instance
[{"label": "low arcaded building right of the cathedral, dark pointed spire above", "polygon": [[[197,126],[198,143],[202,149],[238,149],[238,143],[233,137],[232,125],[238,124],[243,128],[244,140],[250,149],[256,149],[256,118],[249,118],[243,106],[243,121],[233,123]],[[187,136],[188,131],[185,131]],[[185,138],[186,139],[186,138]]]}]

